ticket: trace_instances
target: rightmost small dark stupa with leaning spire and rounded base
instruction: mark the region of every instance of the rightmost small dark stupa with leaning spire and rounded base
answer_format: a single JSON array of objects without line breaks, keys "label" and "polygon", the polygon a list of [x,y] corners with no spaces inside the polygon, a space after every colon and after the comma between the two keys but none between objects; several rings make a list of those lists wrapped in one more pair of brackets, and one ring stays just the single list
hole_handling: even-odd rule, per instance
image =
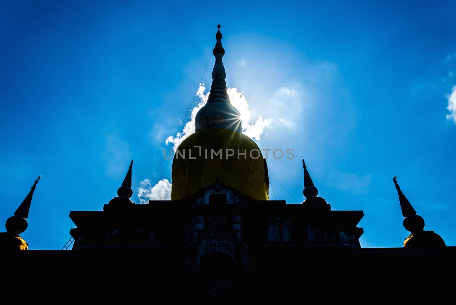
[{"label": "rightmost small dark stupa with leaning spire and rounded base", "polygon": [[434,231],[423,230],[425,221],[423,217],[416,215],[415,209],[399,188],[399,184],[396,181],[397,178],[397,176],[394,177],[393,181],[398,191],[402,216],[405,217],[402,224],[404,225],[404,228],[411,233],[404,241],[404,248],[415,250],[445,247],[445,242],[438,234],[434,233]]}]

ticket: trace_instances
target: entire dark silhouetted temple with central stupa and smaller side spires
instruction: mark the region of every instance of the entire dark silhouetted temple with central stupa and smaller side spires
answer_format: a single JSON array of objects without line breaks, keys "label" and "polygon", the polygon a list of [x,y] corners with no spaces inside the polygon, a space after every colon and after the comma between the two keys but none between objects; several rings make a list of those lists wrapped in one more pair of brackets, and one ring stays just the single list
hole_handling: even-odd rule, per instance
[{"label": "entire dark silhouetted temple with central stupa and smaller side spires", "polygon": [[[385,290],[385,283],[398,284],[404,272],[407,279],[435,279],[441,270],[454,270],[455,247],[446,247],[433,231],[423,231],[424,220],[399,189],[397,177],[404,227],[411,232],[404,248],[361,248],[363,229],[357,225],[363,211],[332,210],[317,196],[304,159],[306,200],[297,205],[269,200],[266,159],[241,132],[239,112],[227,93],[220,30],[216,39],[207,104],[196,116],[196,132],[177,148],[196,157],[176,153],[171,201],[130,201],[131,160],[118,197],[103,211],[70,212],[76,226],[70,231],[72,251],[19,251],[27,249],[19,234],[27,227],[36,180],[7,220],[7,232],[0,234],[2,262],[36,277],[46,273],[52,285],[62,284],[59,274],[68,268],[73,288],[84,283],[84,291],[97,287],[111,297],[148,289],[154,298],[171,301],[283,300],[302,296],[302,289],[315,294],[326,287],[341,289],[345,296],[357,289],[384,294],[392,289]],[[247,153],[228,158],[228,150]],[[248,153],[254,150],[258,158]],[[207,151],[222,155],[207,158],[202,153]],[[411,282],[414,289],[421,286]]]}]

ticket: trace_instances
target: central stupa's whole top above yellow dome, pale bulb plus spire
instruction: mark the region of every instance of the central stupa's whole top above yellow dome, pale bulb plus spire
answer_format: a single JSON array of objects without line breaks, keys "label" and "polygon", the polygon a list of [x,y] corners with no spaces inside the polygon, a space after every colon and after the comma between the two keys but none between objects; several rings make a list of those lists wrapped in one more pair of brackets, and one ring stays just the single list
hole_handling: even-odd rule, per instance
[{"label": "central stupa's whole top above yellow dome, pale bulb plus spire", "polygon": [[233,131],[242,131],[240,112],[231,105],[225,82],[226,72],[223,67],[222,57],[225,49],[222,46],[222,33],[220,25],[215,35],[217,42],[212,53],[215,56],[215,64],[212,70],[212,85],[206,105],[197,113],[195,130],[201,131],[209,128],[226,128]]}]

